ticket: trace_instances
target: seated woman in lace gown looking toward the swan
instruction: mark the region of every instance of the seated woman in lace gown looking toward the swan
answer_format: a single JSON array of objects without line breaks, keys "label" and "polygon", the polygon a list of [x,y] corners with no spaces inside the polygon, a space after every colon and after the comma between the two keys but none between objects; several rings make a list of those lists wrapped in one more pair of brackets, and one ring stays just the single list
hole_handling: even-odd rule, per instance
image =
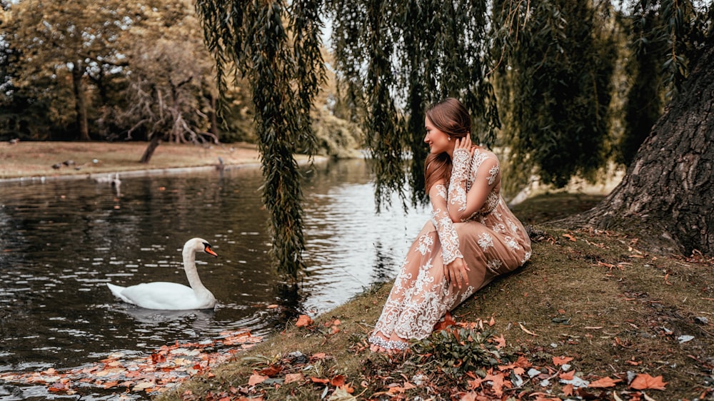
[{"label": "seated woman in lace gown looking toward the swan", "polygon": [[501,198],[496,155],[471,144],[471,117],[454,98],[426,111],[425,163],[431,221],[401,268],[369,337],[376,352],[405,350],[448,310],[526,263],[531,239]]}]

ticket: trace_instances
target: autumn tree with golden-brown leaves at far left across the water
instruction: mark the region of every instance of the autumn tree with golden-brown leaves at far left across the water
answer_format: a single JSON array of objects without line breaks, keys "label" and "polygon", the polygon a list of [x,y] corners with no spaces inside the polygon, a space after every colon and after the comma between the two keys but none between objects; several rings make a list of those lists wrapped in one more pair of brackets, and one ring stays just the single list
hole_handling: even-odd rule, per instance
[{"label": "autumn tree with golden-brown leaves at far left across the water", "polygon": [[[9,8],[6,41],[19,50],[23,67],[14,85],[30,98],[47,99],[60,110],[58,118],[74,116],[76,139],[90,138],[89,76],[123,64],[113,44],[127,25],[125,7],[122,1],[23,0]],[[53,97],[56,91],[43,89],[48,83],[71,91],[71,109]]]}]

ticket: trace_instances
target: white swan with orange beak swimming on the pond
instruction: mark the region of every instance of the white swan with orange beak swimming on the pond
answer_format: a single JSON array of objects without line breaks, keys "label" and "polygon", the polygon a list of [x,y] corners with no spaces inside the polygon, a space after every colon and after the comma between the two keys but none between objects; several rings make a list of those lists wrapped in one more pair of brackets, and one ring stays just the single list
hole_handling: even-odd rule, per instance
[{"label": "white swan with orange beak swimming on the pond", "polygon": [[117,298],[147,309],[187,310],[209,309],[216,306],[216,298],[201,283],[196,272],[196,252],[203,250],[209,255],[218,256],[211,249],[211,244],[201,238],[191,238],[183,245],[183,270],[191,287],[178,283],[157,281],[121,287],[106,283]]}]

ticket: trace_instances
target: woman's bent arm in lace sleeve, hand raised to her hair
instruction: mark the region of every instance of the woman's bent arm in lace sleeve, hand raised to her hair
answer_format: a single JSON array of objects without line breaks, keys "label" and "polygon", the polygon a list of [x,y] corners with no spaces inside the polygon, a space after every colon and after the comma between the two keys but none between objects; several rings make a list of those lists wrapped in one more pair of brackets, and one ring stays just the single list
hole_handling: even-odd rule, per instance
[{"label": "woman's bent arm in lace sleeve, hand raised to her hair", "polygon": [[498,161],[486,158],[478,166],[476,181],[466,192],[466,181],[471,173],[471,138],[457,139],[453,151],[453,170],[448,188],[448,215],[452,221],[458,223],[471,218],[473,213],[483,208],[483,203],[488,198],[493,186],[498,183]]}]

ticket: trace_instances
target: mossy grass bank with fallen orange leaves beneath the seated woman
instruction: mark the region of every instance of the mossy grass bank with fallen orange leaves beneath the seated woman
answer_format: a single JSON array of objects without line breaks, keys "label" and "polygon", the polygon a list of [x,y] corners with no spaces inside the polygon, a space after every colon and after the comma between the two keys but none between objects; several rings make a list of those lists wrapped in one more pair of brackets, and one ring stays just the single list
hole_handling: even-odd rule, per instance
[{"label": "mossy grass bank with fallen orange leaves beneath the seated woman", "polygon": [[713,260],[649,255],[637,238],[542,223],[600,198],[518,205],[537,223],[531,261],[406,354],[367,348],[386,283],[309,325],[291,320],[159,400],[713,400]]}]

